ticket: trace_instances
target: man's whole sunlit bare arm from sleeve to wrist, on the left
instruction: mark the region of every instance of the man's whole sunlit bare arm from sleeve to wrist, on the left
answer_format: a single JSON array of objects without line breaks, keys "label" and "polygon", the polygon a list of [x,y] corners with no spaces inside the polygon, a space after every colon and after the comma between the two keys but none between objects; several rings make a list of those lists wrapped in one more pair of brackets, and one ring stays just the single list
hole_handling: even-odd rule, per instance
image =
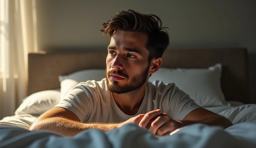
[{"label": "man's whole sunlit bare arm from sleeve to wrist, on the left", "polygon": [[70,110],[56,107],[42,114],[29,130],[49,130],[66,136],[73,136],[82,130],[100,129],[103,131],[118,128],[118,123],[82,123]]}]

